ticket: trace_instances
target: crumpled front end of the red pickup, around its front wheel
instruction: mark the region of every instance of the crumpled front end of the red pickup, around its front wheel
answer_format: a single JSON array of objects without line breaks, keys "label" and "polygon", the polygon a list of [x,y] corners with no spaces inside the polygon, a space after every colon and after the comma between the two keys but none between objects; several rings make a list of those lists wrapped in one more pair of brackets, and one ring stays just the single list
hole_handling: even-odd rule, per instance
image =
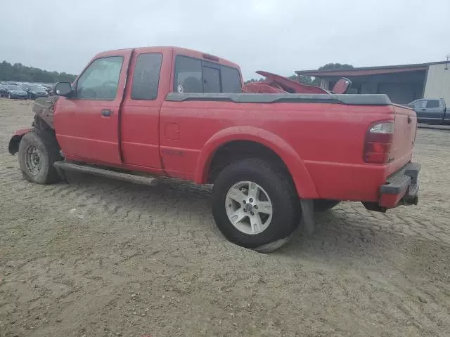
[{"label": "crumpled front end of the red pickup, around its front wheel", "polygon": [[52,96],[46,98],[37,98],[34,101],[32,111],[34,112],[34,121],[31,128],[20,128],[15,131],[14,135],[9,140],[8,152],[16,154],[19,151],[19,143],[25,133],[32,131],[33,128],[41,130],[53,131],[53,109],[59,96]]}]

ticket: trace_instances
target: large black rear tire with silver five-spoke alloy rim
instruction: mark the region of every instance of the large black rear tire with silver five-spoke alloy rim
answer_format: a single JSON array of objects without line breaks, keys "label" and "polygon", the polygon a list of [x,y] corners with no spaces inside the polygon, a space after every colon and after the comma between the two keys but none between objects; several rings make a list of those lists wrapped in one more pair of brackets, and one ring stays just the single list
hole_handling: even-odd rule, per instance
[{"label": "large black rear tire with silver five-spoke alloy rim", "polygon": [[[245,188],[243,189],[244,194],[239,194],[238,186],[247,182],[259,187],[259,197],[257,197],[259,200],[253,200],[255,201],[253,206],[251,205],[252,199],[249,199],[250,193],[245,195]],[[243,201],[238,203],[229,198],[231,190],[238,191],[237,197],[233,194],[235,199],[247,197],[246,206],[243,206]],[[248,191],[250,191],[250,185],[248,185]],[[263,196],[266,196],[266,198]],[[254,231],[254,227],[250,223],[246,223],[251,219],[250,215],[248,218],[244,218],[242,223],[238,223],[241,229],[231,223],[233,217],[230,218],[230,213],[247,209],[247,204],[255,207],[255,204],[259,202],[266,202],[260,201],[263,198],[271,204],[271,216],[266,218],[267,214],[259,213],[260,210],[253,209],[260,220],[266,218],[265,223],[264,220],[260,221],[261,227],[255,226],[260,230],[265,227],[263,230]],[[247,212],[247,210],[245,211]],[[297,229],[301,216],[300,200],[288,173],[261,159],[243,159],[227,166],[214,181],[212,215],[217,227],[230,242],[262,253],[268,253],[288,242]],[[253,213],[252,217],[255,217]],[[269,223],[267,223],[268,221]],[[245,231],[243,231],[243,227]]]}]

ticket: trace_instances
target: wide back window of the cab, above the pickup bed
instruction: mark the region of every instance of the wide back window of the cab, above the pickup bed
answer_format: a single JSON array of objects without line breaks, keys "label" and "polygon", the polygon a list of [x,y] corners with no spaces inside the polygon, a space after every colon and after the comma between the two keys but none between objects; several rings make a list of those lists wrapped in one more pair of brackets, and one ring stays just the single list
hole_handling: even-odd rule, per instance
[{"label": "wide back window of the cab, above the pickup bed", "polygon": [[240,75],[225,65],[176,56],[174,92],[241,93]]}]

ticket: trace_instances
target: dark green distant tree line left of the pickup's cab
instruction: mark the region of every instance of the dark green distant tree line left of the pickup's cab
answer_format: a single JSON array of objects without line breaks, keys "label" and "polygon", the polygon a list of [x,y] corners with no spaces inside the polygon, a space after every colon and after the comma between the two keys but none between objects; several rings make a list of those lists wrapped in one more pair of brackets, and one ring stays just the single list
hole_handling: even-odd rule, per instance
[{"label": "dark green distant tree line left of the pickup's cab", "polygon": [[0,81],[56,83],[59,81],[72,82],[75,75],[66,72],[49,72],[35,67],[27,67],[22,63],[3,61],[0,63]]}]

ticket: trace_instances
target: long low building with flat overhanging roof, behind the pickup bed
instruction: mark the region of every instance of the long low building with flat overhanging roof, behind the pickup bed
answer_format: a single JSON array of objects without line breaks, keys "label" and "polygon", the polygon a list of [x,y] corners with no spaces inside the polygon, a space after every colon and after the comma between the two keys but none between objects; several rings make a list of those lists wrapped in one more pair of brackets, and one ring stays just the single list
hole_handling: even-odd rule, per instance
[{"label": "long low building with flat overhanging roof, behind the pickup bed", "polygon": [[385,93],[392,102],[401,104],[418,98],[444,98],[450,103],[450,62],[446,61],[296,73],[318,77],[327,90],[340,77],[347,77],[352,80],[351,93]]}]

